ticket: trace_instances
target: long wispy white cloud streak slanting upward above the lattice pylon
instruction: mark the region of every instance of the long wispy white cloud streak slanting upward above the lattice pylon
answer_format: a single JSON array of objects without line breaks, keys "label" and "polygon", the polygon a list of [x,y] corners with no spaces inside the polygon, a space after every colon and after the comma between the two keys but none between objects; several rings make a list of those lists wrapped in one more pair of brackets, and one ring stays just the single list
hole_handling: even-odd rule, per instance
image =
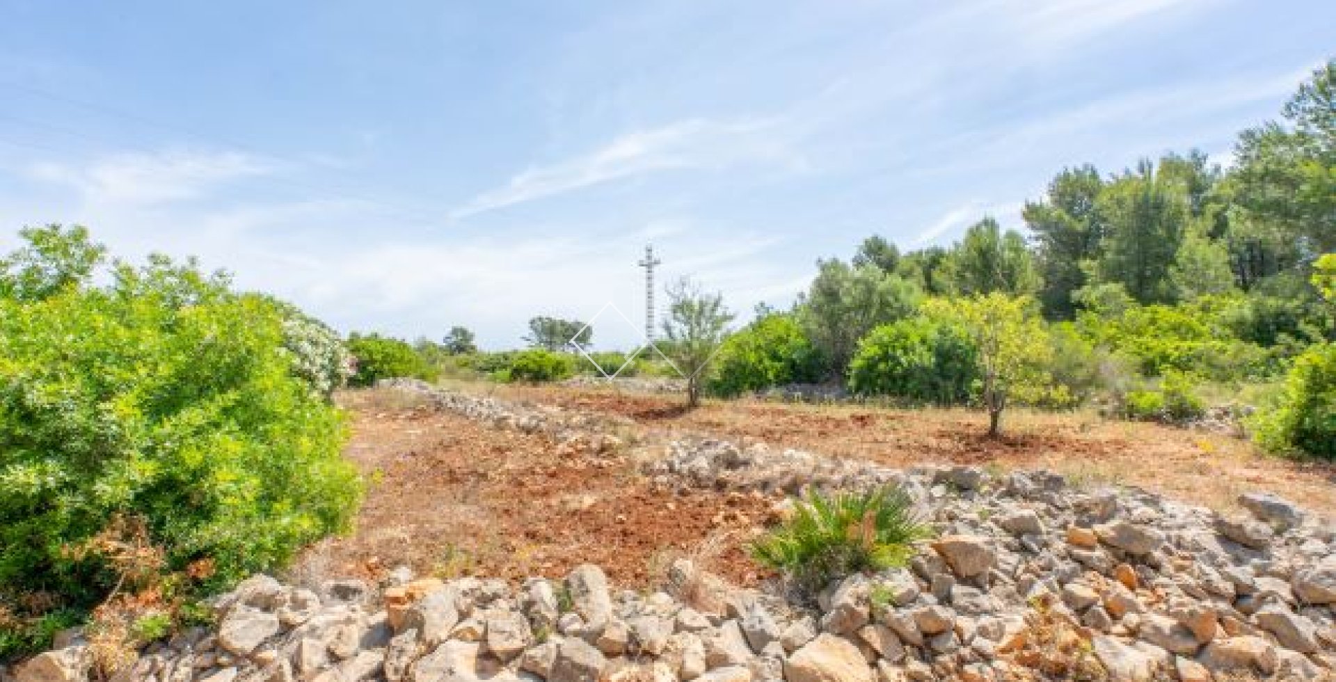
[{"label": "long wispy white cloud streak slanting upward above the lattice pylon", "polygon": [[679,168],[723,168],[787,155],[764,135],[760,119],[689,119],[621,135],[608,144],[562,162],[534,166],[504,187],[480,194],[452,218],[466,218],[517,203],[582,190],[633,175]]}]

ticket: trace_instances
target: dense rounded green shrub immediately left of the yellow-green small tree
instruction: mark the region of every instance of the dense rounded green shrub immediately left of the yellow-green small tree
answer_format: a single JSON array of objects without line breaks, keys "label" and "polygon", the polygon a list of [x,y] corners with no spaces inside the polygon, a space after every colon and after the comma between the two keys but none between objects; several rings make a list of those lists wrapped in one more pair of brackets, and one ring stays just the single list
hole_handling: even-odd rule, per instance
[{"label": "dense rounded green shrub immediately left of the yellow-green small tree", "polygon": [[974,341],[959,328],[926,317],[874,329],[858,344],[848,372],[856,394],[937,405],[969,401],[977,380]]}]

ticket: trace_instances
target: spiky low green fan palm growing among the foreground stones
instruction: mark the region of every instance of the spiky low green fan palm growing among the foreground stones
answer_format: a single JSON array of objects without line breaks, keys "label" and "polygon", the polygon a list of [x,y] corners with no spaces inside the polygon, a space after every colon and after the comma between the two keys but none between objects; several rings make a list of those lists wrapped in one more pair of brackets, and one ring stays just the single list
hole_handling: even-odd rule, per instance
[{"label": "spiky low green fan palm growing among the foreground stones", "polygon": [[807,594],[858,571],[904,566],[912,543],[929,538],[902,488],[812,491],[794,515],[751,546],[758,563],[780,571]]}]

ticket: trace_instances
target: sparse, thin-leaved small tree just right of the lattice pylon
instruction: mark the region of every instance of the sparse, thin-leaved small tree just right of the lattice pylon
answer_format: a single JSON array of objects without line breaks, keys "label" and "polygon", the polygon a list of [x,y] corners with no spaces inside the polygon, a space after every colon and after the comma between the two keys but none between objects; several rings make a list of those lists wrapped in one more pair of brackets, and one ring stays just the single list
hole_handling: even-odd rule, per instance
[{"label": "sparse, thin-leaved small tree just right of the lattice pylon", "polygon": [[724,329],[733,314],[724,308],[724,297],[707,294],[689,279],[668,288],[668,320],[664,320],[664,350],[687,374],[687,407],[700,404],[700,386],[705,380],[715,350],[724,342]]}]

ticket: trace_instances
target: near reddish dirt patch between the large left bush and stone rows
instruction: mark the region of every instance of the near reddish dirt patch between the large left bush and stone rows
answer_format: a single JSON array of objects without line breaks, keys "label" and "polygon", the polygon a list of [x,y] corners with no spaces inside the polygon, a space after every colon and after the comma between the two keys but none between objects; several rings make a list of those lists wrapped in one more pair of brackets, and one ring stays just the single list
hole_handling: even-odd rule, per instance
[{"label": "near reddish dirt patch between the large left bush and stone rows", "polygon": [[705,554],[736,584],[762,578],[741,546],[774,499],[651,489],[617,452],[492,428],[402,393],[341,401],[366,500],[354,534],[309,550],[298,571],[374,575],[407,564],[442,578],[561,578],[596,563],[617,584],[648,586],[676,555]]}]

